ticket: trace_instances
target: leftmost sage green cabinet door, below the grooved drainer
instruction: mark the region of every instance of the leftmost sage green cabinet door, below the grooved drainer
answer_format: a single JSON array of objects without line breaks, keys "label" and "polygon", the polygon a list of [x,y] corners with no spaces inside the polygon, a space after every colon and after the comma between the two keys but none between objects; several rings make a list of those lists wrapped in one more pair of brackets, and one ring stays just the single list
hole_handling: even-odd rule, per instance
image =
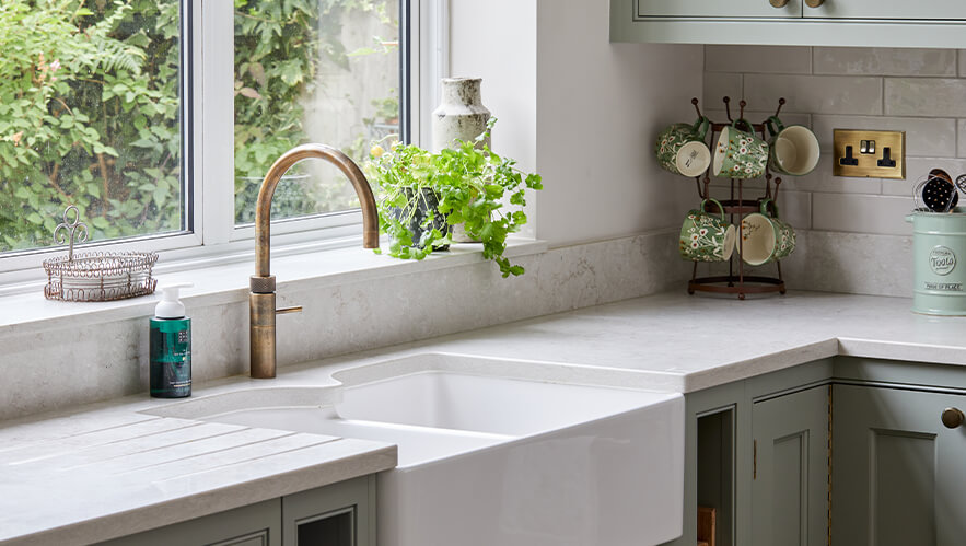
[{"label": "leftmost sage green cabinet door, below the grooved drainer", "polygon": [[268,500],[101,543],[101,546],[281,546],[281,503]]}]

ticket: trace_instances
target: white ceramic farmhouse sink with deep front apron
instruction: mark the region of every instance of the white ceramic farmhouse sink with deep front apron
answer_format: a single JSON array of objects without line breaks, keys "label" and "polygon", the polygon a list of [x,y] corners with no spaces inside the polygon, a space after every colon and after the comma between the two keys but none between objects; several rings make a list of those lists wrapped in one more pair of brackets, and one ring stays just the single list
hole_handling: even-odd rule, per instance
[{"label": "white ceramic farmhouse sink with deep front apron", "polygon": [[194,417],[397,444],[399,465],[379,476],[381,546],[641,546],[682,533],[679,394],[603,384],[622,383],[613,371],[447,355],[334,377],[330,406],[212,415],[208,403]]}]

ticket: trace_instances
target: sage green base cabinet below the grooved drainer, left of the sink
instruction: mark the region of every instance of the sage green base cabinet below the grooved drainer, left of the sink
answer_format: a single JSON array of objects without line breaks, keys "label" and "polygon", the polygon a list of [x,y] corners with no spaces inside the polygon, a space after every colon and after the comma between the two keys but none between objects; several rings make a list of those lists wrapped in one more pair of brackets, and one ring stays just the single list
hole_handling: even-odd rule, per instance
[{"label": "sage green base cabinet below the grooved drainer, left of the sink", "polygon": [[375,476],[363,476],[101,546],[375,546]]}]

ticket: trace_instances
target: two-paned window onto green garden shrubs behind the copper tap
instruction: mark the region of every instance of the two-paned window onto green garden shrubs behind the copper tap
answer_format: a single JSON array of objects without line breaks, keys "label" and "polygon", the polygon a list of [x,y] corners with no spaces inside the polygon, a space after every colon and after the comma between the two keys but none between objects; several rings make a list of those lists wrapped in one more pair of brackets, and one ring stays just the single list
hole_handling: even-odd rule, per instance
[{"label": "two-paned window onto green garden shrubs behind the copper tap", "polygon": [[[361,161],[371,140],[404,132],[410,10],[416,0],[3,0],[0,283],[62,252],[53,231],[68,205],[93,245],[251,245],[257,188],[282,152],[315,141]],[[273,233],[354,234],[357,208],[335,169],[305,162],[276,193],[286,222]]]}]

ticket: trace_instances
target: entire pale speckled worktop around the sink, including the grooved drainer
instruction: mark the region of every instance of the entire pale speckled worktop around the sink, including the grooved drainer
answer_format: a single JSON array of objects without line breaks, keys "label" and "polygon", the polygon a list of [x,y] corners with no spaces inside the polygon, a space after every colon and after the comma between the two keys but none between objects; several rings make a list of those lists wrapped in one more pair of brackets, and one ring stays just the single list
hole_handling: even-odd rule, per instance
[{"label": "entire pale speckled worktop around the sink, including the grooved drainer", "polygon": [[[229,377],[195,397],[331,385],[338,370],[421,352],[512,359],[580,381],[693,392],[847,355],[966,364],[966,318],[906,299],[790,292],[748,301],[666,293],[309,362],[273,381]],[[484,362],[480,364],[479,362]],[[478,360],[476,365],[486,365]],[[504,369],[511,369],[504,368]],[[143,396],[0,423],[0,544],[81,544],[392,468],[392,445],[156,417]]]}]

